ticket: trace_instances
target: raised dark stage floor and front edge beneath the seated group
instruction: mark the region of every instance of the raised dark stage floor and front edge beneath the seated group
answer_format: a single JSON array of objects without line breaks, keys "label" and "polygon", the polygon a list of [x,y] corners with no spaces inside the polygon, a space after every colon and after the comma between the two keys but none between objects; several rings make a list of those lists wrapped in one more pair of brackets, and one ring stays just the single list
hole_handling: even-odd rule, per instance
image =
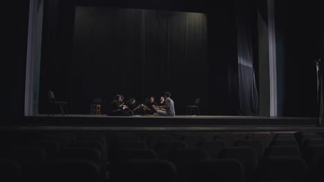
[{"label": "raised dark stage floor and front edge beneath the seated group", "polygon": [[43,126],[100,126],[100,127],[233,127],[233,126],[303,126],[316,127],[317,118],[301,117],[236,117],[236,116],[132,116],[110,117],[107,115],[70,114],[62,116],[38,115],[24,117],[20,125]]}]

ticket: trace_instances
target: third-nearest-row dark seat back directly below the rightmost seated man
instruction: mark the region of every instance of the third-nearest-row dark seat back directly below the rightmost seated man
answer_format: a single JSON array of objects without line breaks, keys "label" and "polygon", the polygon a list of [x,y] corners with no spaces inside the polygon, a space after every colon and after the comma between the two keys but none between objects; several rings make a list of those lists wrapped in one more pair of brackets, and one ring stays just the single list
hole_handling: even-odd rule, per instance
[{"label": "third-nearest-row dark seat back directly below the rightmost seated man", "polygon": [[159,159],[169,159],[170,153],[173,150],[187,148],[186,143],[181,141],[164,141],[156,145],[155,151],[158,154]]}]

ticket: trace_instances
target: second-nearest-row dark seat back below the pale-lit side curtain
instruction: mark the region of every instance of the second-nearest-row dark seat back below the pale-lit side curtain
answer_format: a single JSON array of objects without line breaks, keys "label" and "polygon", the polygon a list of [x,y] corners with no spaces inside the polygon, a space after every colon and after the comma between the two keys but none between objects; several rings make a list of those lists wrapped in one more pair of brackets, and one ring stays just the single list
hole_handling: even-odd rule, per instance
[{"label": "second-nearest-row dark seat back below the pale-lit side curtain", "polygon": [[244,167],[246,181],[254,179],[258,166],[258,156],[251,147],[227,147],[219,154],[220,159],[237,159]]}]

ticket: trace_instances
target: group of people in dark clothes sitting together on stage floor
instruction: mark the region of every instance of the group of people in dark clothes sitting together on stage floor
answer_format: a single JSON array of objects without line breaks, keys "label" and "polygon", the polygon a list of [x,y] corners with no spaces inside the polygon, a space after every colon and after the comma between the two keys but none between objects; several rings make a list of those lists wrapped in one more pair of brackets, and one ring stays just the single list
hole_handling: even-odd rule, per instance
[{"label": "group of people in dark clothes sitting together on stage floor", "polygon": [[154,116],[175,116],[174,102],[170,98],[171,93],[165,92],[160,101],[156,103],[154,97],[150,100],[137,104],[136,99],[132,98],[124,103],[123,95],[117,94],[110,105],[110,116],[133,116],[133,115],[154,115]]}]

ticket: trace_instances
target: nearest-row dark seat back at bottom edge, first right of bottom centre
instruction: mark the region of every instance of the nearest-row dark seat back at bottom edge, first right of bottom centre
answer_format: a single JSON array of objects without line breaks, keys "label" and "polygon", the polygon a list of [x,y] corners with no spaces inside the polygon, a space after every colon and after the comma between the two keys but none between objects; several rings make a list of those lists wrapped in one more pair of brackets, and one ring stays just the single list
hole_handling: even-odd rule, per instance
[{"label": "nearest-row dark seat back at bottom edge, first right of bottom centre", "polygon": [[190,182],[243,182],[244,168],[236,159],[196,161],[188,172],[188,179]]}]

